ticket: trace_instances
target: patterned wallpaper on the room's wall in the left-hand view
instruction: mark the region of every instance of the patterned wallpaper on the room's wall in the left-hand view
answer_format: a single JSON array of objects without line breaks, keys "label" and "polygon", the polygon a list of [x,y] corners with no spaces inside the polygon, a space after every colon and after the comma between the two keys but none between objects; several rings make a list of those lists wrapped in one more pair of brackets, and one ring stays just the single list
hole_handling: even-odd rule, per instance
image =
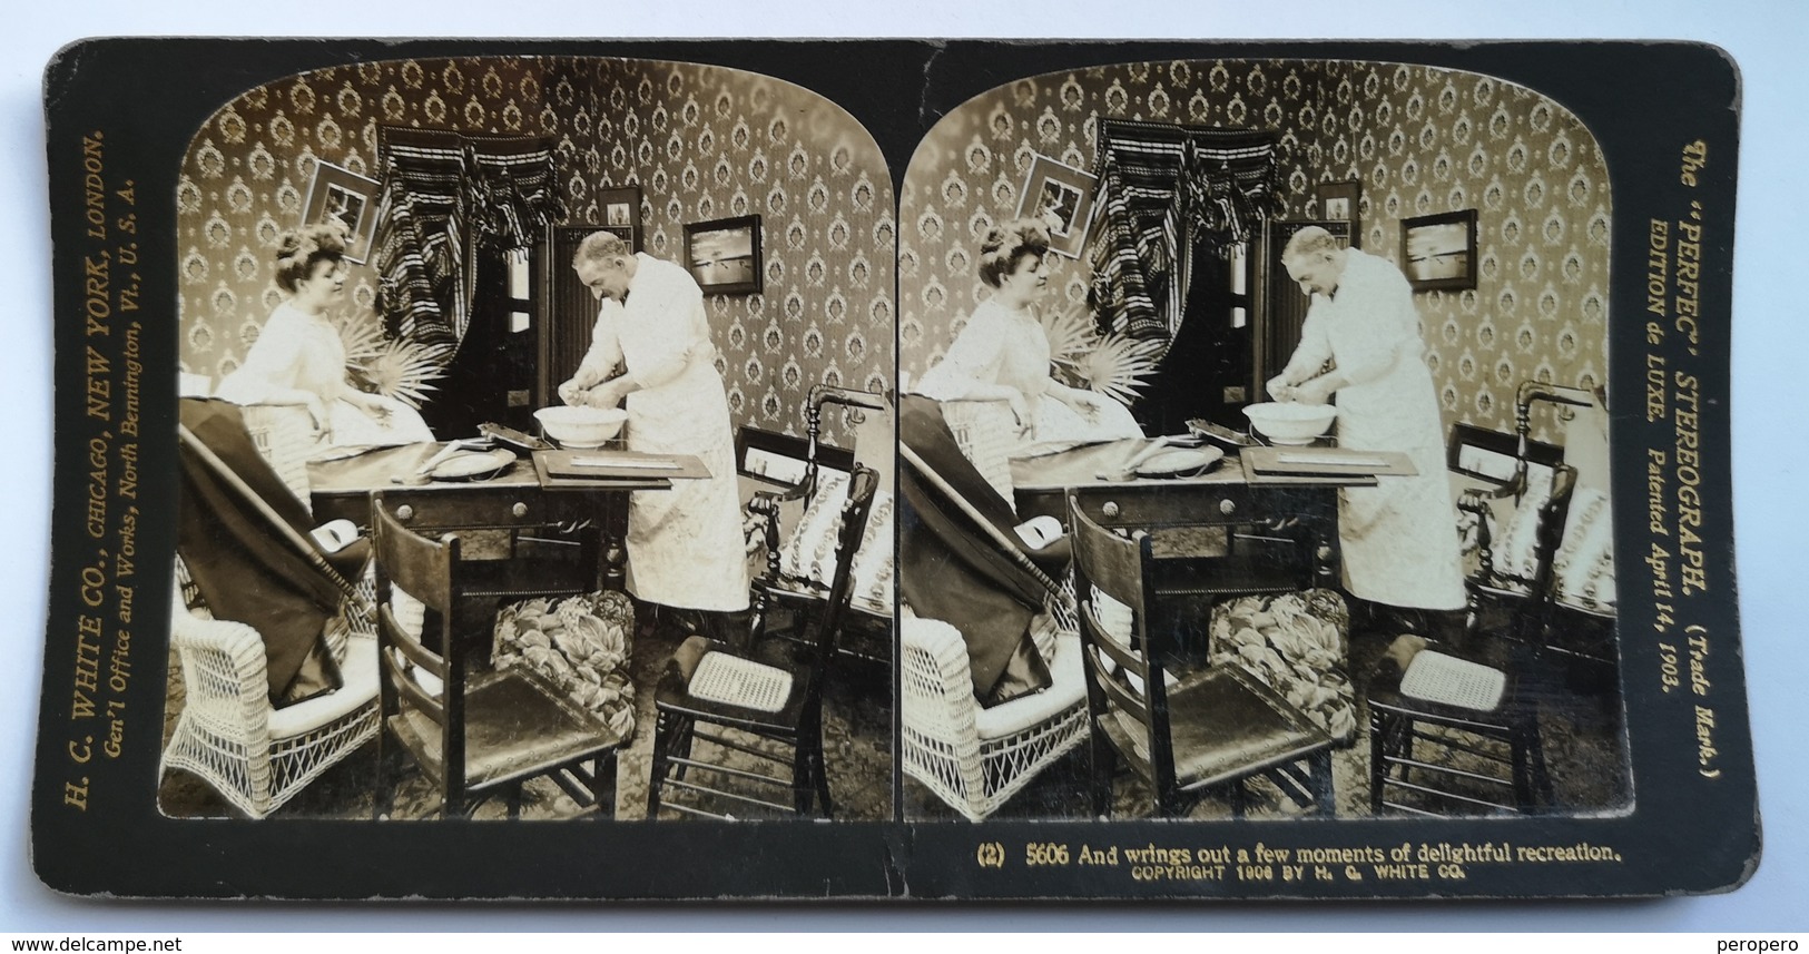
[{"label": "patterned wallpaper on the room's wall in the left-hand view", "polygon": [[[271,250],[315,163],[369,174],[380,125],[552,136],[568,219],[601,221],[597,188],[640,185],[664,259],[682,259],[684,223],[760,214],[765,291],[706,299],[736,424],[798,433],[818,380],[892,386],[892,177],[859,123],[742,71],[564,56],[333,67],[226,103],[177,186],[185,371],[237,367],[280,301]],[[374,272],[353,266],[347,293],[371,308]]]}]

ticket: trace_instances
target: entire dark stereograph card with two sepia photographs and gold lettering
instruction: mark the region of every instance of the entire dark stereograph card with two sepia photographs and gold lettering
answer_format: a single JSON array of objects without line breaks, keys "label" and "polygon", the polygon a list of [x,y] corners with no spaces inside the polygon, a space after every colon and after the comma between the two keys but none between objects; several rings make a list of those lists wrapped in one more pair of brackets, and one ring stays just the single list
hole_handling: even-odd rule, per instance
[{"label": "entire dark stereograph card with two sepia photographs and gold lettering", "polygon": [[[1523,900],[1758,860],[1713,47],[74,52],[56,891]],[[123,80],[190,62],[127,136]]]}]

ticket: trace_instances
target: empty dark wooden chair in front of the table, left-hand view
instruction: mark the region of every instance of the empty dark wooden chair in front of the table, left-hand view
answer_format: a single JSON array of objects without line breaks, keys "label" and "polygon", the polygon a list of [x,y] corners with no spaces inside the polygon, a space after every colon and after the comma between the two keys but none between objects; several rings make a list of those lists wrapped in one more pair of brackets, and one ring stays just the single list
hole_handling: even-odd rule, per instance
[{"label": "empty dark wooden chair in front of the table, left-hand view", "polygon": [[[458,536],[427,539],[373,507],[378,597],[376,813],[394,802],[400,755],[440,789],[443,816],[470,816],[503,795],[521,813],[523,784],[550,778],[588,816],[615,815],[615,757],[624,739],[573,706],[526,666],[476,672],[472,646],[490,639],[494,601],[467,599],[472,567]],[[402,621],[407,594],[421,625]]]}]

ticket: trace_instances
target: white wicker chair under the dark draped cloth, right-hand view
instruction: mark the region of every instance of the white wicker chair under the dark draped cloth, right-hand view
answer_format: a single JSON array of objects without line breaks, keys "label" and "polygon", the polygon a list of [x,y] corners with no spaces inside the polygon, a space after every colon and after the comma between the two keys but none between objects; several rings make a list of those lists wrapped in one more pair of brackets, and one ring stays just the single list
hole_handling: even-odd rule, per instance
[{"label": "white wicker chair under the dark draped cloth, right-hand view", "polygon": [[1085,740],[1087,684],[1073,630],[1055,637],[1053,686],[990,710],[973,699],[955,626],[906,617],[901,643],[904,771],[968,820],[984,820]]}]

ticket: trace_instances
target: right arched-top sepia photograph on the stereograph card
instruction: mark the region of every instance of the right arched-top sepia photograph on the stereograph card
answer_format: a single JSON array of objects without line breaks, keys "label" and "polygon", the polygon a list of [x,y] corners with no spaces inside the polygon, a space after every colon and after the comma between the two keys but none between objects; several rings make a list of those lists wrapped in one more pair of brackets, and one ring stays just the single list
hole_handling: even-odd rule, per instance
[{"label": "right arched-top sepia photograph on the stereograph card", "polygon": [[901,201],[906,816],[1632,811],[1592,141],[1369,62],[948,112]]}]

